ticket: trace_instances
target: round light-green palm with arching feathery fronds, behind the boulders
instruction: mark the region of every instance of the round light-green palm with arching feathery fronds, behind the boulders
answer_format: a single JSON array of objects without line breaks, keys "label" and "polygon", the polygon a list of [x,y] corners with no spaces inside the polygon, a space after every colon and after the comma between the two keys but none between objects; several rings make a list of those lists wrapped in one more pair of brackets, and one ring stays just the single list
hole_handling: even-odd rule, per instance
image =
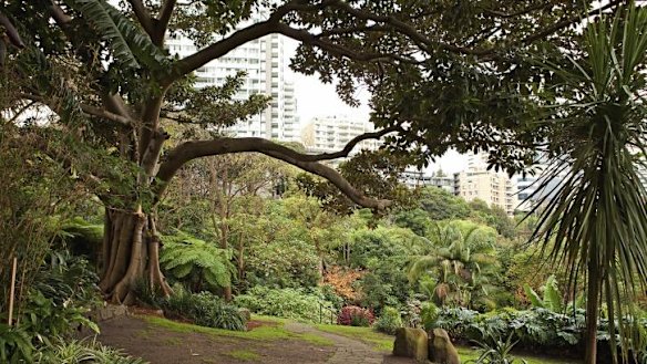
[{"label": "round light-green palm with arching feathery fronds, behind the boulders", "polygon": [[412,259],[411,282],[432,277],[429,288],[434,303],[471,306],[482,298],[496,262],[493,231],[465,221],[437,223],[422,253]]}]

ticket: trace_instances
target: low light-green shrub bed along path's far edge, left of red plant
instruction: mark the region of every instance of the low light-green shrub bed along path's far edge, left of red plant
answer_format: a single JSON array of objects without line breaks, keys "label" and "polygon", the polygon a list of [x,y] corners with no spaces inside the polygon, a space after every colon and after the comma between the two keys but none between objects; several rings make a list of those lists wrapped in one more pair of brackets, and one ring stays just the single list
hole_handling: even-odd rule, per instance
[{"label": "low light-green shrub bed along path's far edge, left of red plant", "polygon": [[234,302],[258,314],[294,319],[297,321],[319,322],[321,312],[333,310],[333,304],[324,294],[299,289],[269,289],[255,287],[247,294],[240,294]]}]

